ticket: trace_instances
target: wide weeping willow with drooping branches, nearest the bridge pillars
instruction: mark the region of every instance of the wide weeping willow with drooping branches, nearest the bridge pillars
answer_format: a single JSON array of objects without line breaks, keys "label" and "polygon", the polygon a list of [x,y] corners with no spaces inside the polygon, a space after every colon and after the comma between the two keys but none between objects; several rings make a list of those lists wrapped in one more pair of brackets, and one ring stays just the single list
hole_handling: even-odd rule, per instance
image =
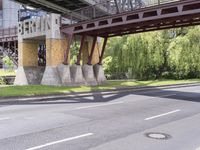
[{"label": "wide weeping willow with drooping branches, nearest the bridge pillars", "polygon": [[168,44],[160,32],[113,38],[108,43],[106,58],[112,63],[106,71],[118,77],[123,74],[129,78],[157,78],[160,68],[165,68]]}]

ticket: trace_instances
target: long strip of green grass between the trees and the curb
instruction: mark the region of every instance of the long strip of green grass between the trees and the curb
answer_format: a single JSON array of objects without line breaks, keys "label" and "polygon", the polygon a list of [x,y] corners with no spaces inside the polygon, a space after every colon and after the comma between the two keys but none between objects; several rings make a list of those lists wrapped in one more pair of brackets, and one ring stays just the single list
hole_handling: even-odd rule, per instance
[{"label": "long strip of green grass between the trees and the curb", "polygon": [[116,80],[108,81],[101,86],[81,86],[81,87],[54,87],[54,86],[2,86],[0,87],[0,97],[12,96],[33,96],[46,94],[66,94],[74,92],[90,92],[101,90],[112,90],[117,88],[126,88],[133,86],[160,86],[183,83],[197,83],[200,79],[192,80],[151,80],[151,81],[134,81],[134,80]]}]

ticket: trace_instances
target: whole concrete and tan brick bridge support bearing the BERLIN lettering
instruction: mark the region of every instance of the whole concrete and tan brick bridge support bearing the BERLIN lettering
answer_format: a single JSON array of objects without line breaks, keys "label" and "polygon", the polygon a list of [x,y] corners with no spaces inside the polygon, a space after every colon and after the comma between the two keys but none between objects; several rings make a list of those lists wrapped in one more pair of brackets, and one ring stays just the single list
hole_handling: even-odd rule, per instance
[{"label": "whole concrete and tan brick bridge support bearing the BERLIN lettering", "polygon": [[[57,14],[19,23],[19,66],[15,85],[81,86],[106,81],[102,65],[98,65],[101,58],[98,38],[87,37],[82,41],[79,63],[70,65],[68,48],[71,39],[61,33],[60,26],[60,15]],[[38,66],[41,41],[46,47],[44,67]]]}]

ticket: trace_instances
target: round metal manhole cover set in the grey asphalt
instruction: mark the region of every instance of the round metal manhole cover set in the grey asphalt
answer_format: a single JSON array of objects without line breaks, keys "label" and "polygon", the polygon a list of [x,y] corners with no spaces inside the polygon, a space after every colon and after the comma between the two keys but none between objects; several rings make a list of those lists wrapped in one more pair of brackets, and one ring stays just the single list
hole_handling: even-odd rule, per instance
[{"label": "round metal manhole cover set in the grey asphalt", "polygon": [[168,140],[171,138],[169,134],[158,133],[158,132],[150,132],[145,134],[148,138],[158,139],[158,140]]}]

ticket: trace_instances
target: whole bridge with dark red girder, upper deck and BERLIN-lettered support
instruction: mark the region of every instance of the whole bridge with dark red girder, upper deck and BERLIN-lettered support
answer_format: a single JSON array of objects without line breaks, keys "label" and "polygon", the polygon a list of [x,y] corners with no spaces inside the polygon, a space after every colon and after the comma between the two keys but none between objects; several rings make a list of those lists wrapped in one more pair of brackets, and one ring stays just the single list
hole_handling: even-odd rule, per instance
[{"label": "whole bridge with dark red girder, upper deck and BERLIN-lettered support", "polygon": [[[200,24],[197,0],[15,1],[52,13],[19,23],[15,84],[20,85],[101,84],[109,37]],[[99,37],[104,39],[102,44]],[[74,39],[80,47],[77,62],[70,65]],[[38,67],[39,42],[46,45],[45,69]]]}]

